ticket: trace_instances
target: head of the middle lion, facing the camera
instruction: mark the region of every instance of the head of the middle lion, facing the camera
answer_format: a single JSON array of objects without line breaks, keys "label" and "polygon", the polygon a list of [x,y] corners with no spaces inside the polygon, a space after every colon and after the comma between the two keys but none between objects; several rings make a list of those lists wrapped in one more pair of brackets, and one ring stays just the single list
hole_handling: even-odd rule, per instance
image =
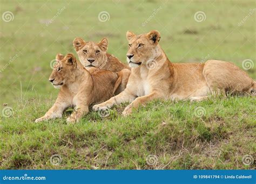
[{"label": "head of the middle lion, facing the camera", "polygon": [[73,40],[73,46],[79,56],[79,60],[86,69],[90,67],[100,68],[100,66],[106,64],[107,45],[108,40],[106,38],[103,38],[98,44],[92,41],[85,42],[82,38]]}]

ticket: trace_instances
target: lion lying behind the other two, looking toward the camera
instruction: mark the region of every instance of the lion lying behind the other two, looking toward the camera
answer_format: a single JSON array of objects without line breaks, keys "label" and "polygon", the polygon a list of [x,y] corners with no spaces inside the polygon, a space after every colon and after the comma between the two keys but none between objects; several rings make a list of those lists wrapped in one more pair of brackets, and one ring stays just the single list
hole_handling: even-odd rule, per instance
[{"label": "lion lying behind the other two, looking toward the camera", "polygon": [[[86,69],[96,67],[112,72],[119,72],[122,69],[130,69],[129,66],[118,60],[116,56],[106,53],[108,44],[109,41],[106,38],[103,38],[98,44],[92,41],[85,42],[82,38],[75,38],[73,40],[73,46],[79,56],[79,60]],[[129,75],[126,75],[127,77],[124,76],[122,77],[122,82],[115,95],[122,92],[126,87]]]}]

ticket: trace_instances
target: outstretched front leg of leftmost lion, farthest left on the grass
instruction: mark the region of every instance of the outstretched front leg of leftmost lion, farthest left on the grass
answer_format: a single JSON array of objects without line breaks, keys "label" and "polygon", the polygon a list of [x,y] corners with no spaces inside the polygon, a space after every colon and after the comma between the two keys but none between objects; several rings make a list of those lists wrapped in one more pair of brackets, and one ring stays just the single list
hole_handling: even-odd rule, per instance
[{"label": "outstretched front leg of leftmost lion, farthest left on the grass", "polygon": [[53,106],[45,113],[45,115],[41,118],[36,119],[37,122],[42,122],[42,121],[48,121],[49,119],[54,119],[54,118],[61,118],[64,109],[68,107],[68,104],[66,103],[55,103]]}]

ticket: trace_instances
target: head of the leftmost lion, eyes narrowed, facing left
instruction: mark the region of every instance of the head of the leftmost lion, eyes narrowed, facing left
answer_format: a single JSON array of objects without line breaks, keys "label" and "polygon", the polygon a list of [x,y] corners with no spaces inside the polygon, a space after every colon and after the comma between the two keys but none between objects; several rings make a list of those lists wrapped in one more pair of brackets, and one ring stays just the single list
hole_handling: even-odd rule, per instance
[{"label": "head of the leftmost lion, eyes narrowed, facing left", "polygon": [[72,53],[65,56],[58,53],[56,55],[56,64],[53,67],[49,81],[55,88],[60,88],[64,84],[75,81],[75,73],[77,67],[76,57]]}]

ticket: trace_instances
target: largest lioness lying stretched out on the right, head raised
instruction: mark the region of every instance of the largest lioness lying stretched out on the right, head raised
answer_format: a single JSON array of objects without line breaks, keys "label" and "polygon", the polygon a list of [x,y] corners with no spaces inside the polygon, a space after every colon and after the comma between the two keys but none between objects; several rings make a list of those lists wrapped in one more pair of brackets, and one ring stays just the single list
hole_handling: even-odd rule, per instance
[{"label": "largest lioness lying stretched out on the right, head raised", "polygon": [[127,62],[132,67],[127,87],[110,100],[94,105],[93,110],[131,102],[123,111],[123,115],[129,115],[132,108],[157,98],[202,100],[208,94],[252,93],[256,90],[255,81],[230,62],[170,62],[158,44],[158,31],[137,36],[128,31],[126,37],[129,41]]}]

